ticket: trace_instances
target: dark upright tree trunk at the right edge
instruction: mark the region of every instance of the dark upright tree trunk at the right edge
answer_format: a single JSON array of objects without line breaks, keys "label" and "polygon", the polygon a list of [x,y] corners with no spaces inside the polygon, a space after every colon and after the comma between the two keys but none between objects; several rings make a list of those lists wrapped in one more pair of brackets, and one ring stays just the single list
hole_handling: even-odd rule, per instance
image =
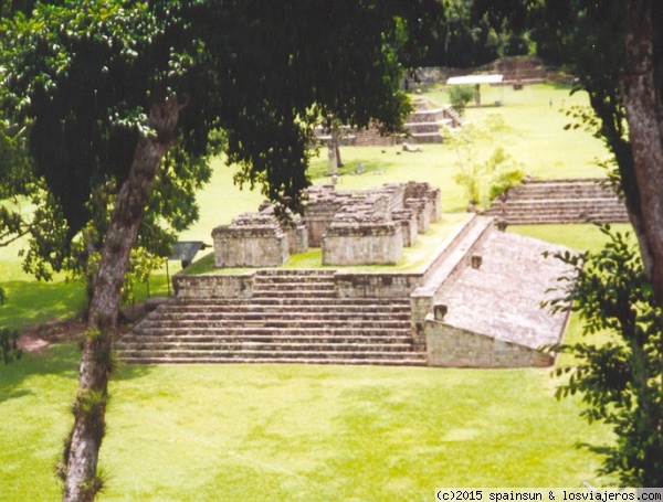
[{"label": "dark upright tree trunk at the right edge", "polygon": [[663,143],[660,118],[661,96],[654,68],[653,0],[628,0],[627,74],[624,106],[629,139],[633,151],[633,171],[640,195],[646,243],[643,254],[651,255],[645,268],[654,285],[656,300],[663,307]]}]

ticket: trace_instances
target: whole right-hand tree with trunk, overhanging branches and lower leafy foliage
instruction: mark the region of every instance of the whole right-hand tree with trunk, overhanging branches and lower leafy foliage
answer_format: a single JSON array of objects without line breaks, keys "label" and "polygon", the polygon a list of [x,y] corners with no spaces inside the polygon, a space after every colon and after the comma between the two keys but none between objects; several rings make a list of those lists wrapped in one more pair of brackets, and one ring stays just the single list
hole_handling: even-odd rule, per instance
[{"label": "whole right-hand tree with trunk, overhanging branches and lower leafy foliage", "polygon": [[586,416],[613,426],[618,440],[604,450],[606,471],[628,484],[657,487],[663,449],[663,3],[475,0],[474,8],[496,24],[528,30],[539,54],[578,78],[591,110],[576,110],[575,119],[614,156],[610,178],[624,196],[640,259],[619,235],[599,254],[565,257],[579,278],[567,299],[576,300],[587,332],[608,329],[620,339],[603,346],[559,348],[579,361],[562,392],[583,393],[590,404]]}]

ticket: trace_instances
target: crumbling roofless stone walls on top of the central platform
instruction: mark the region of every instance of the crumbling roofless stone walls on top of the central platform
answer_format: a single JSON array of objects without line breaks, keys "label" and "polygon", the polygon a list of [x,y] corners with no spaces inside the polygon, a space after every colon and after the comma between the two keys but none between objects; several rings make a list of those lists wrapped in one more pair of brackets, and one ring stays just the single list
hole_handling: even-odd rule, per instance
[{"label": "crumbling roofless stone walls on top of the central platform", "polygon": [[307,196],[303,218],[280,222],[263,204],[214,228],[215,265],[280,266],[308,246],[322,247],[324,265],[396,264],[441,215],[440,189],[413,181],[355,192],[313,186]]}]

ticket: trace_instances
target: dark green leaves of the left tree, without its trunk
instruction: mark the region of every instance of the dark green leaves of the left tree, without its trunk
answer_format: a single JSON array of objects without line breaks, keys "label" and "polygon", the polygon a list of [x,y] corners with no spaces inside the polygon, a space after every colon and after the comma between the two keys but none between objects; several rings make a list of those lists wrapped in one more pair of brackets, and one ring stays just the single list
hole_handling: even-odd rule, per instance
[{"label": "dark green leaves of the left tree, without its trunk", "polygon": [[193,193],[209,180],[206,158],[221,148],[242,167],[238,182],[297,206],[320,117],[400,128],[409,110],[398,89],[401,60],[422,54],[411,42],[425,31],[422,4],[431,21],[443,18],[430,1],[380,9],[352,1],[66,1],[33,11],[14,3],[19,11],[0,28],[3,108],[14,127],[29,128],[35,179],[66,222],[66,235],[45,232],[33,245],[29,268],[44,277],[63,265],[85,275],[80,267],[101,250],[155,99],[179,93],[186,100],[137,242],[166,256],[198,217]]}]

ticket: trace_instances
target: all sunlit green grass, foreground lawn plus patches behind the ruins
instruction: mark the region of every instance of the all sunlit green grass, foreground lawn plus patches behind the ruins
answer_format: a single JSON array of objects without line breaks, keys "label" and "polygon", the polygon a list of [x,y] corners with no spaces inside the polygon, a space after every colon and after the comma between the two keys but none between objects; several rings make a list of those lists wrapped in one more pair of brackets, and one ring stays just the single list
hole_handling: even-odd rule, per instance
[{"label": "all sunlit green grass, foreground lawn plus patches behind the ruins", "polygon": [[[540,178],[594,177],[604,157],[586,131],[562,130],[558,108],[586,103],[568,88],[486,88],[469,121],[503,114],[513,131],[505,148]],[[443,90],[429,94],[445,100]],[[549,99],[554,106],[549,106]],[[486,146],[490,148],[491,146]],[[385,150],[382,152],[382,150]],[[339,189],[393,181],[429,181],[442,189],[442,209],[462,218],[466,201],[453,181],[455,153],[445,145],[421,153],[399,148],[344,148]],[[486,150],[487,151],[487,150]],[[313,162],[315,183],[327,178],[325,152]],[[484,152],[485,153],[485,152]],[[377,174],[376,172],[381,172]],[[232,170],[214,163],[199,194],[201,218],[180,238],[211,244],[211,229],[244,211],[260,193],[232,185]],[[587,225],[511,227],[575,248],[599,246]],[[442,238],[442,237],[440,237]],[[427,237],[412,267],[425,259]],[[0,325],[18,329],[66,318],[83,305],[78,285],[57,277],[38,284],[21,271],[20,243],[0,248],[0,281],[9,303]],[[418,250],[419,249],[419,250]],[[202,254],[201,254],[202,255]],[[209,260],[209,258],[207,258]],[[315,253],[288,266],[308,267]],[[201,266],[201,265],[198,265]],[[178,270],[176,264],[170,273]],[[166,291],[165,271],[151,282]],[[141,295],[146,295],[145,291]],[[568,337],[580,335],[572,319]],[[0,366],[0,501],[60,496],[52,466],[71,425],[78,351],[73,343]],[[564,362],[564,361],[562,361]],[[606,428],[578,417],[578,399],[556,402],[549,370],[442,370],[306,365],[125,366],[113,380],[102,467],[103,501],[272,500],[421,501],[435,487],[577,487],[597,479],[600,459],[578,442],[610,440]]]}]

